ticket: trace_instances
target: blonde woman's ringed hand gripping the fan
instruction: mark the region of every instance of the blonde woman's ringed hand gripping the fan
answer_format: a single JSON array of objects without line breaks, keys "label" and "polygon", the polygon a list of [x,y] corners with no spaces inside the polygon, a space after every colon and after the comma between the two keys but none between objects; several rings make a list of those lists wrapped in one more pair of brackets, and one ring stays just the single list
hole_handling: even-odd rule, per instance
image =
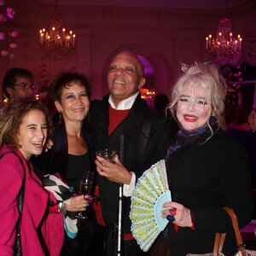
[{"label": "blonde woman's ringed hand gripping the fan", "polygon": [[190,215],[190,209],[184,207],[183,205],[170,201],[163,205],[166,208],[162,211],[162,218],[166,218],[167,215],[172,215],[174,217],[173,223],[180,227],[191,227],[192,219]]}]

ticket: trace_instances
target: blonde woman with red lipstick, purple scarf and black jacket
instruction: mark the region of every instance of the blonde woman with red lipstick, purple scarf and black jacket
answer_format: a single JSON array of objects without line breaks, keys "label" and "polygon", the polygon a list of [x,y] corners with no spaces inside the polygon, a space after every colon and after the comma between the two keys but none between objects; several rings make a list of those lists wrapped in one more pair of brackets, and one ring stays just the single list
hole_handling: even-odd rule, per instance
[{"label": "blonde woman with red lipstick, purple scarf and black jacket", "polygon": [[215,233],[226,233],[223,253],[237,252],[231,218],[239,227],[253,216],[250,166],[245,149],[224,129],[226,84],[216,67],[198,64],[184,73],[169,105],[179,130],[166,154],[172,201],[163,205],[171,254],[212,253]]}]

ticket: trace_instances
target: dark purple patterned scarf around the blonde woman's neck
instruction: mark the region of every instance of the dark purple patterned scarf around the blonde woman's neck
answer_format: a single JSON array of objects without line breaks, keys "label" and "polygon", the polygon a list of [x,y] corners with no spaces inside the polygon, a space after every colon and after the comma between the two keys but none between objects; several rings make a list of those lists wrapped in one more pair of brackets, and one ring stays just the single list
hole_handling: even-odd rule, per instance
[{"label": "dark purple patterned scarf around the blonde woman's neck", "polygon": [[[210,125],[212,126],[216,123],[217,119],[215,117],[211,117],[209,120]],[[175,152],[178,148],[181,148],[183,145],[188,143],[194,143],[197,139],[201,137],[201,135],[209,129],[207,123],[202,125],[201,127],[195,129],[194,131],[186,131],[183,127],[177,131],[177,137],[175,142],[171,144],[170,148],[166,154],[166,160]]]}]

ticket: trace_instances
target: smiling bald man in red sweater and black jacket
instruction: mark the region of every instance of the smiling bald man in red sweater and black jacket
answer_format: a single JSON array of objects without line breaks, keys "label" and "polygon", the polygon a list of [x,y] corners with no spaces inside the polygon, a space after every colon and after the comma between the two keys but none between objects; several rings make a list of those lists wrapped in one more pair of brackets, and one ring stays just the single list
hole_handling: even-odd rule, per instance
[{"label": "smiling bald man in red sweater and black jacket", "polygon": [[[108,71],[110,94],[102,101],[91,102],[88,125],[94,149],[111,148],[120,154],[120,137],[124,137],[123,163],[118,155],[114,158],[115,163],[96,156],[96,195],[101,201],[94,204],[98,230],[91,247],[92,255],[116,255],[117,236],[114,234],[117,235],[119,183],[124,184],[122,255],[143,255],[131,235],[131,193],[136,179],[164,158],[174,128],[170,119],[165,121],[164,113],[154,112],[141,98],[139,90],[144,83],[143,63],[137,55],[130,51],[119,52],[113,57]],[[104,252],[96,251],[103,248]]]}]

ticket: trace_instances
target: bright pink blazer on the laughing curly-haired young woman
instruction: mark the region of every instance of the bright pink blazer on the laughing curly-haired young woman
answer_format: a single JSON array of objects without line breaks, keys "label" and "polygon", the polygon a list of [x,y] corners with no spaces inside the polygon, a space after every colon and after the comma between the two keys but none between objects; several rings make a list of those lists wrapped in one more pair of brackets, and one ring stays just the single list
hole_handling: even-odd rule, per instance
[{"label": "bright pink blazer on the laughing curly-haired young woman", "polygon": [[[9,148],[3,146],[0,154],[8,150]],[[49,195],[44,190],[41,180],[33,172],[31,163],[26,162],[19,150],[17,154],[20,155],[26,167],[25,199],[20,228],[22,253],[26,256],[44,256],[42,239],[55,237],[54,232],[46,228],[47,222],[45,222]],[[14,254],[16,224],[20,214],[17,198],[23,178],[24,173],[20,160],[14,154],[4,155],[0,160],[0,255]],[[49,220],[49,218],[47,219]],[[60,220],[61,216],[58,219]],[[39,237],[41,238],[39,239]],[[57,241],[55,246],[61,247],[63,237]],[[56,255],[50,253],[50,247],[48,250],[50,255]]]}]

